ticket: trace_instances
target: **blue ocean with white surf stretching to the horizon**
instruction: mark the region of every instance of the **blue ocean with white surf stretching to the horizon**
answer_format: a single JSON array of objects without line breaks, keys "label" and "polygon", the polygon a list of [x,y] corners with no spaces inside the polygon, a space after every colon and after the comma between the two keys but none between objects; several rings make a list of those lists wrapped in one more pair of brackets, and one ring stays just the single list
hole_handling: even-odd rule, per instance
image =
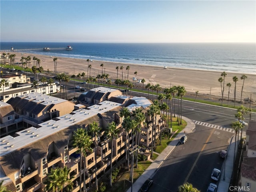
[{"label": "blue ocean with white surf stretching to the horizon", "polygon": [[73,50],[31,51],[31,54],[256,74],[255,43],[0,42],[0,50],[66,48],[68,45]]}]

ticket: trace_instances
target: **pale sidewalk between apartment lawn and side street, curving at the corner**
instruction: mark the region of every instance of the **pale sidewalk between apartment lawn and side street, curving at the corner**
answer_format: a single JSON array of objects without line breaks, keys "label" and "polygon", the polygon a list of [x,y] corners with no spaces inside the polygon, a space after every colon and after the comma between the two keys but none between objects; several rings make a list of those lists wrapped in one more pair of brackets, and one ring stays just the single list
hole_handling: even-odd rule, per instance
[{"label": "pale sidewalk between apartment lawn and side street, curving at the corner", "polygon": [[142,184],[148,179],[151,178],[156,170],[161,166],[164,160],[169,156],[169,154],[174,150],[176,145],[179,142],[179,138],[186,133],[192,132],[196,127],[194,122],[186,117],[182,117],[187,122],[187,126],[169,143],[169,145],[163,150],[163,152],[154,160],[154,162],[144,171],[144,173],[134,182],[132,189],[131,187],[127,190],[127,192],[138,192]]}]

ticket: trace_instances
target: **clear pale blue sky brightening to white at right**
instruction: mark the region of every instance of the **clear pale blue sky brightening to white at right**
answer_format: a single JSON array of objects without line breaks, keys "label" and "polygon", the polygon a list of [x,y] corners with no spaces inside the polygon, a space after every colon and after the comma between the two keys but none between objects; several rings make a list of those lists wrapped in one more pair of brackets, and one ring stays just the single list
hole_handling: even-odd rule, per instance
[{"label": "clear pale blue sky brightening to white at right", "polygon": [[2,42],[256,42],[256,1],[0,0]]}]

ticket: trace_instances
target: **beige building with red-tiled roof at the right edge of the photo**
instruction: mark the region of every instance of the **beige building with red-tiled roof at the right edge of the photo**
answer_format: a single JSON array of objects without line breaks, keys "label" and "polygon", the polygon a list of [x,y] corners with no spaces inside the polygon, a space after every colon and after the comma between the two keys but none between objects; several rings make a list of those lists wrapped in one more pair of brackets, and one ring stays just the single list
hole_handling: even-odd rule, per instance
[{"label": "beige building with red-tiled roof at the right edge of the photo", "polygon": [[250,121],[246,130],[246,151],[241,165],[240,184],[244,191],[256,189],[256,121]]}]

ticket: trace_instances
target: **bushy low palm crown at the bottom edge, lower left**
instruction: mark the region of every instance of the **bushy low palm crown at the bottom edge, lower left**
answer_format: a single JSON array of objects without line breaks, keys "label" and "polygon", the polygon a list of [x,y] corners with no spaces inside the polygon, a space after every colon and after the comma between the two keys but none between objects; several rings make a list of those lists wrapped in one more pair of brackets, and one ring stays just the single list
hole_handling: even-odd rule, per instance
[{"label": "bushy low palm crown at the bottom edge, lower left", "polygon": [[46,185],[47,191],[63,191],[64,186],[68,188],[68,191],[73,190],[73,182],[71,181],[72,178],[68,178],[70,175],[71,168],[64,167],[64,168],[56,168],[51,169],[50,173],[47,174],[47,179],[44,181],[44,184]]}]

